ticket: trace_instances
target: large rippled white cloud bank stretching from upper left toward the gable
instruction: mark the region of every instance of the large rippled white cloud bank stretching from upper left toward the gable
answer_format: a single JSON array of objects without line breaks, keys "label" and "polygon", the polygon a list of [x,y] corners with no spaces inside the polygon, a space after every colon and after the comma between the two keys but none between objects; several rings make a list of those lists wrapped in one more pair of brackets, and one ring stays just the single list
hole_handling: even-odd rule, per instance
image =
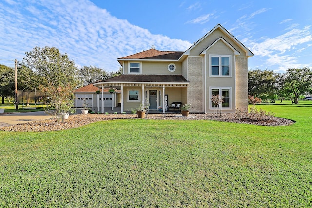
[{"label": "large rippled white cloud bank stretching from upper left toward the gable", "polygon": [[0,8],[0,57],[21,60],[35,46],[57,47],[79,66],[95,65],[108,71],[120,66],[117,58],[150,49],[185,51],[188,41],[151,34],[117,19],[90,1],[16,0]]}]

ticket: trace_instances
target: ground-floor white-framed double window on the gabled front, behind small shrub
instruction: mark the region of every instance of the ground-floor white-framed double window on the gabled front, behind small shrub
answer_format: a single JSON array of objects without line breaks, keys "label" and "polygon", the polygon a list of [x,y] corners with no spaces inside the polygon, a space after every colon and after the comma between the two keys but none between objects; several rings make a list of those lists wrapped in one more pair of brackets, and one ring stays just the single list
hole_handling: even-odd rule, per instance
[{"label": "ground-floor white-framed double window on the gabled front, behind small shrub", "polygon": [[[219,99],[222,99],[222,109],[231,109],[231,87],[210,87],[210,98],[209,100],[211,100],[211,98],[215,95],[219,95]],[[213,108],[221,108],[221,104],[220,105],[215,105],[215,103],[213,101],[210,102],[210,109]]]}]

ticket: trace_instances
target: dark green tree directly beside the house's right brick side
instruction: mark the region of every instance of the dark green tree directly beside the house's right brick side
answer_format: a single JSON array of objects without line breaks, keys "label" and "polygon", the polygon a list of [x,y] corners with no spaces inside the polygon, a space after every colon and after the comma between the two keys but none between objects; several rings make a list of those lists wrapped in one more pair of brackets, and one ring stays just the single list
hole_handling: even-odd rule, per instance
[{"label": "dark green tree directly beside the house's right brick side", "polygon": [[272,70],[249,70],[248,71],[248,94],[251,96],[274,97],[272,92],[277,90],[276,79],[278,73]]}]

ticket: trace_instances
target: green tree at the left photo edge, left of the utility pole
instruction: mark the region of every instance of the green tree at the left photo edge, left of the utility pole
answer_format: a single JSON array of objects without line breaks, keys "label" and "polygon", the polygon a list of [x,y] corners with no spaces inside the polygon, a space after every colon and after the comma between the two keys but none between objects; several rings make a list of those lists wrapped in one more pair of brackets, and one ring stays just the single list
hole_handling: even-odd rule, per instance
[{"label": "green tree at the left photo edge, left of the utility pole", "polygon": [[14,92],[14,69],[0,64],[0,95],[2,104],[4,97],[13,95]]}]

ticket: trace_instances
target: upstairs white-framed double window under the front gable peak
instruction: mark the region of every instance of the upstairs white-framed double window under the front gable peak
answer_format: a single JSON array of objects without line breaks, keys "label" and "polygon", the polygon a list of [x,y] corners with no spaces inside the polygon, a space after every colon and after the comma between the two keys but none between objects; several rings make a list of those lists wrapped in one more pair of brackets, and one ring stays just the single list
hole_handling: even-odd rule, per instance
[{"label": "upstairs white-framed double window under the front gable peak", "polygon": [[209,55],[210,76],[231,76],[231,55]]}]

